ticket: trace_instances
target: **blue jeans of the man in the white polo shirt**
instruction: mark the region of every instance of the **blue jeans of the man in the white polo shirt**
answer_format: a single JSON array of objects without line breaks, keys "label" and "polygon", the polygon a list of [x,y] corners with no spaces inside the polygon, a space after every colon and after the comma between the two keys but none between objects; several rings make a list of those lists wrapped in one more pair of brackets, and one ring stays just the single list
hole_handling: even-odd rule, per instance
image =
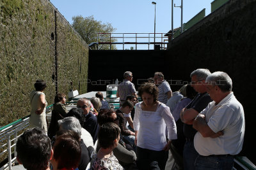
[{"label": "blue jeans of the man in the white polo shirt", "polygon": [[196,158],[196,170],[231,170],[234,165],[234,157],[229,156],[208,156],[204,157],[199,155]]}]

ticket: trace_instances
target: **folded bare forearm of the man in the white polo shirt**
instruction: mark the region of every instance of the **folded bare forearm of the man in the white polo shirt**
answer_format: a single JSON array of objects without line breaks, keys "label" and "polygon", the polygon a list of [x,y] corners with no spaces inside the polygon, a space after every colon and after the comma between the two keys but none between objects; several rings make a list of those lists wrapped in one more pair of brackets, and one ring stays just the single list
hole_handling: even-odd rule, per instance
[{"label": "folded bare forearm of the man in the white polo shirt", "polygon": [[216,138],[218,136],[223,135],[223,131],[217,133],[212,131],[212,129],[209,127],[209,125],[207,125],[207,122],[205,121],[205,115],[202,114],[196,116],[193,122],[193,128],[196,129],[196,131],[200,132],[200,134],[202,134],[204,138]]}]

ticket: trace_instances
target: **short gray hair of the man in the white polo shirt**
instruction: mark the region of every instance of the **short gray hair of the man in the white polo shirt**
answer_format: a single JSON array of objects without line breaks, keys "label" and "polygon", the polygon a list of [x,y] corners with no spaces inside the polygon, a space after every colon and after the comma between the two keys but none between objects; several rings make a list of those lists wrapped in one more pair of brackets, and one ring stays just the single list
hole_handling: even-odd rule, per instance
[{"label": "short gray hair of the man in the white polo shirt", "polygon": [[222,71],[216,71],[211,75],[207,76],[206,82],[211,82],[212,85],[217,85],[220,87],[222,92],[231,92],[232,90],[232,80],[227,73]]}]

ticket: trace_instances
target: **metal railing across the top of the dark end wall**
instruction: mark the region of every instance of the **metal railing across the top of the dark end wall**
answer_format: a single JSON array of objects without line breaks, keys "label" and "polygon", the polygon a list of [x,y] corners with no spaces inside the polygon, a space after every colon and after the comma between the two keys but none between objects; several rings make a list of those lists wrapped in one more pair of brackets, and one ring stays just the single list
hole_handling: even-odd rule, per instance
[{"label": "metal railing across the top of the dark end wall", "polygon": [[97,33],[97,42],[91,45],[122,45],[125,50],[125,45],[135,45],[134,50],[138,50],[138,45],[159,45],[161,49],[166,49],[168,44],[168,36],[166,33]]}]

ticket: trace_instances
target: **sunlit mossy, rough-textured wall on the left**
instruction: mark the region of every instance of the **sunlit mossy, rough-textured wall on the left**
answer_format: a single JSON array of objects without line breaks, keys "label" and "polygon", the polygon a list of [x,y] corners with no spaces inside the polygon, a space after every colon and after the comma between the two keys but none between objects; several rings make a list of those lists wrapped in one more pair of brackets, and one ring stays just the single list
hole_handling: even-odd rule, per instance
[{"label": "sunlit mossy, rough-textured wall on the left", "polygon": [[67,94],[72,82],[85,93],[79,82],[87,78],[88,46],[58,10],[47,0],[0,0],[0,126],[29,115],[37,79],[47,81],[47,103],[53,103],[56,46],[58,91]]}]

